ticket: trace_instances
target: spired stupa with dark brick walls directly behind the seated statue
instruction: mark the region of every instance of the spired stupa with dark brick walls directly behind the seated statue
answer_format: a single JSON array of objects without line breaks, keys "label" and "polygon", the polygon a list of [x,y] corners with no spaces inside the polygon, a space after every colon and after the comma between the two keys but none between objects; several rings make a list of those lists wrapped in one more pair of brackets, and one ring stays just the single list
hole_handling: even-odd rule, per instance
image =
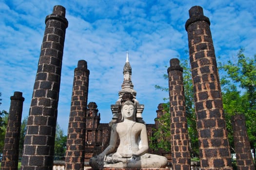
[{"label": "spired stupa with dark brick walls directly behind the seated statue", "polygon": [[[128,53],[126,56],[126,62],[123,69],[124,81],[122,84],[122,89],[119,91],[119,99],[116,104],[111,105],[111,110],[113,113],[113,118],[110,123],[100,123],[100,114],[98,113],[97,104],[95,102],[90,102],[88,104],[87,113],[86,113],[86,135],[85,135],[85,161],[89,161],[92,156],[98,155],[101,153],[108,145],[111,133],[112,123],[121,121],[121,111],[120,111],[120,100],[122,95],[125,92],[133,94],[135,102],[137,103],[137,117],[141,123],[144,123],[142,119],[142,111],[144,108],[143,104],[139,104],[136,100],[136,91],[133,89],[133,84],[131,81],[132,68],[128,60]],[[163,111],[162,104],[158,105],[157,115],[158,118],[162,116],[165,112]],[[155,119],[156,124],[158,121]],[[148,139],[153,135],[154,130],[157,128],[156,124],[146,124]],[[171,162],[171,153],[164,151],[152,151],[149,153],[155,153],[158,155],[164,155],[168,158],[168,161]]]}]

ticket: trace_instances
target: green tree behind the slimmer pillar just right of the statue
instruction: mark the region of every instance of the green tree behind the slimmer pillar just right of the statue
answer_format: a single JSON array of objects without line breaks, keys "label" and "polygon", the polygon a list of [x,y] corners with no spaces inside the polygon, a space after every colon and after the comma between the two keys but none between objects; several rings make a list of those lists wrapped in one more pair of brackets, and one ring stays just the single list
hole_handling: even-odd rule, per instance
[{"label": "green tree behind the slimmer pillar just right of the statue", "polygon": [[[185,107],[186,107],[186,117],[188,121],[188,134],[190,138],[191,152],[193,156],[198,156],[198,138],[197,138],[197,123],[196,114],[194,108],[194,92],[192,85],[191,70],[188,60],[181,60],[180,66],[183,68],[183,85],[184,85],[184,95],[185,95]],[[164,74],[163,78],[168,80],[168,75]],[[169,88],[155,85],[156,89],[161,91],[169,92]],[[164,98],[164,101],[169,101],[169,98]],[[162,148],[165,151],[170,151],[170,105],[169,102],[164,103],[164,111],[166,112],[162,117],[158,118],[160,121],[160,126],[155,130],[155,133],[151,137],[152,142],[160,141],[157,144],[151,142],[151,149]],[[168,131],[168,132],[167,132]],[[163,135],[168,135],[164,136]],[[169,139],[166,141],[166,139]]]}]

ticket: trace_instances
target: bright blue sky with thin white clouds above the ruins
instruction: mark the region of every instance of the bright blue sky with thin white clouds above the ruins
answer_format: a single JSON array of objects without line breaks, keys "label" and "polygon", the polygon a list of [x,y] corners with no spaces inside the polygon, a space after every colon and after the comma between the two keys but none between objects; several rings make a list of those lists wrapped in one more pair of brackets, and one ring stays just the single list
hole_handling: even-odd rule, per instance
[{"label": "bright blue sky with thin white clouds above the ruins", "polygon": [[255,0],[0,0],[0,110],[9,111],[10,96],[21,91],[22,118],[28,116],[39,61],[45,17],[54,5],[66,8],[66,30],[59,93],[58,123],[67,132],[74,69],[86,60],[90,70],[88,103],[96,102],[101,122],[112,118],[122,69],[129,51],[132,82],[142,117],[154,123],[158,103],[168,93],[154,85],[163,79],[172,58],[187,59],[185,22],[199,5],[210,18],[217,61],[256,54]]}]

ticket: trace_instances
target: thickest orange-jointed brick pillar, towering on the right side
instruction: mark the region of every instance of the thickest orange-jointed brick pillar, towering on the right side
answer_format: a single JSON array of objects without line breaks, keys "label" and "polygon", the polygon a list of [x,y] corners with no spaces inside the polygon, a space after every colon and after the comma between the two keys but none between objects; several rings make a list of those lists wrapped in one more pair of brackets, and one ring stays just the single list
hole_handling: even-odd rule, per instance
[{"label": "thickest orange-jointed brick pillar, towering on the right side", "polygon": [[189,10],[185,28],[197,115],[201,170],[232,170],[210,20],[200,6]]}]

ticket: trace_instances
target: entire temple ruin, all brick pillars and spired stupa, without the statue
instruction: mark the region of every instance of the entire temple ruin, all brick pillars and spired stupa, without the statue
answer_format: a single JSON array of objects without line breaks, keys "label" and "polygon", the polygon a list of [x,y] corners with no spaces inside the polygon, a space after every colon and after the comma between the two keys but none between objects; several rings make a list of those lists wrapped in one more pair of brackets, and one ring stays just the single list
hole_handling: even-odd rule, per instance
[{"label": "entire temple ruin, all brick pillars and spired stupa, without the statue", "polygon": [[[21,170],[53,170],[54,140],[59,102],[60,73],[64,48],[65,30],[68,21],[65,8],[55,6],[53,14],[45,19],[45,32],[39,56],[38,71],[34,84],[31,107],[27,122],[27,133],[21,161]],[[231,153],[224,119],[217,62],[210,30],[210,20],[203,15],[200,6],[189,10],[185,24],[188,33],[189,57],[192,69],[199,140],[201,170],[232,170]],[[169,77],[172,151],[158,153],[172,161],[172,170],[190,170],[189,138],[185,115],[185,98],[182,68],[178,59],[170,60]],[[132,68],[128,52],[123,68],[124,81],[119,98],[110,106],[113,118],[110,123],[100,123],[96,102],[88,102],[89,73],[87,62],[80,60],[75,69],[70,109],[67,150],[63,167],[66,170],[83,170],[84,162],[101,153],[108,145],[111,126],[121,121],[120,100],[124,93],[133,95],[138,108],[138,122],[144,123],[144,105],[136,99],[137,92],[132,84]],[[91,75],[93,76],[93,75]],[[8,127],[5,136],[1,170],[17,169],[19,128],[24,98],[21,92],[11,97]],[[157,117],[163,115],[158,105]],[[239,170],[254,170],[250,156],[250,144],[244,125],[244,117],[233,119]],[[147,124],[147,135],[152,136],[155,124]],[[242,145],[244,144],[244,145]],[[18,144],[19,148],[19,144]],[[239,154],[241,153],[242,154]],[[172,153],[172,156],[170,154]],[[171,157],[173,159],[171,160]],[[108,169],[106,169],[108,170]]]}]

